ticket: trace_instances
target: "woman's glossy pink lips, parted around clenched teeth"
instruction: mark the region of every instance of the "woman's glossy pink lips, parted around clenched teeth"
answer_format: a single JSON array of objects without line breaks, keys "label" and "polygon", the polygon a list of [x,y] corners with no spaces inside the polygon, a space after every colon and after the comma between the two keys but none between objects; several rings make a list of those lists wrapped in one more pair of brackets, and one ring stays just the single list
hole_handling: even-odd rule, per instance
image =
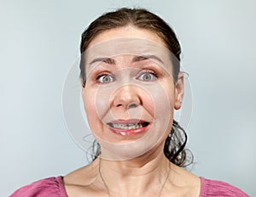
[{"label": "woman's glossy pink lips, parted around clenched teeth", "polygon": [[[145,122],[147,122],[147,126],[139,127],[139,128],[135,128],[135,129],[121,129],[121,128],[115,128],[115,127],[110,126],[111,123],[113,123],[113,124],[141,123],[142,124]],[[143,120],[137,120],[137,119],[111,121],[111,122],[108,122],[107,125],[113,133],[121,135],[121,136],[134,136],[134,135],[142,134],[143,132],[147,132],[148,128],[151,126],[150,122],[143,121]]]}]

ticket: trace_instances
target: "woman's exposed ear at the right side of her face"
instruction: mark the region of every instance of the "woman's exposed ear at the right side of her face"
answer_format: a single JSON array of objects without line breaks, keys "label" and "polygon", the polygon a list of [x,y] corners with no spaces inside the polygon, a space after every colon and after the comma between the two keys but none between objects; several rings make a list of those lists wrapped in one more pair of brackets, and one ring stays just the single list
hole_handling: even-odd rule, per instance
[{"label": "woman's exposed ear at the right side of her face", "polygon": [[184,75],[182,72],[178,73],[177,82],[175,84],[175,102],[174,109],[179,110],[183,102],[184,95]]}]

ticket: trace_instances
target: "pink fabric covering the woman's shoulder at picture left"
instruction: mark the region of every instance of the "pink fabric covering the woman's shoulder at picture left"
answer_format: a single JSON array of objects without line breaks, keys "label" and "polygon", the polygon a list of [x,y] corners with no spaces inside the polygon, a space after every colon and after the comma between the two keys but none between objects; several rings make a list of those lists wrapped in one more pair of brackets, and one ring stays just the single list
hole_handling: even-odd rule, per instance
[{"label": "pink fabric covering the woman's shoulder at picture left", "polygon": [[17,189],[10,197],[67,197],[62,177],[48,177]]}]

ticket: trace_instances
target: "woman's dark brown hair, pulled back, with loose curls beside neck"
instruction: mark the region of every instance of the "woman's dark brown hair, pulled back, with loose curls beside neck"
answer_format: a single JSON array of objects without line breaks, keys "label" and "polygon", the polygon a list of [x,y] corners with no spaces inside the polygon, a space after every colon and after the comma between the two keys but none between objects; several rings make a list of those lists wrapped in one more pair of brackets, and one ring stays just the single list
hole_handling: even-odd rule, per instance
[{"label": "woman's dark brown hair, pulled back, with loose curls beside neck", "polygon": [[[80,53],[84,53],[90,42],[103,31],[126,25],[134,25],[137,28],[154,32],[165,42],[166,48],[172,52],[178,62],[180,61],[181,47],[172,28],[159,16],[143,8],[119,8],[116,11],[102,14],[102,16],[90,23],[82,34]],[[178,72],[179,64],[173,72],[174,79],[177,79]],[[84,86],[86,82],[84,64],[80,64],[80,77]],[[193,161],[193,155],[188,149],[184,149],[186,142],[186,132],[178,125],[177,121],[173,121],[172,130],[166,138],[164,153],[168,160],[177,166],[187,166]],[[93,149],[95,150],[93,160],[95,160],[101,154],[101,149],[96,142],[93,145]]]}]

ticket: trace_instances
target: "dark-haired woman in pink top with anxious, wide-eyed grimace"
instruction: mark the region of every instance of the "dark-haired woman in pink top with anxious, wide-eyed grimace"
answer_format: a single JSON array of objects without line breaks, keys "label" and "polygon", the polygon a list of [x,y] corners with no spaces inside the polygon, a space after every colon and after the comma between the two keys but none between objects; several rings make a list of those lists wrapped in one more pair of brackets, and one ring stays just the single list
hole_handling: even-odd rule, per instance
[{"label": "dark-haired woman in pink top with anxious, wide-eyed grimace", "polygon": [[181,48],[164,20],[137,8],[103,14],[84,31],[80,49],[95,157],[11,196],[247,196],[183,169],[191,155],[173,120],[183,99]]}]

